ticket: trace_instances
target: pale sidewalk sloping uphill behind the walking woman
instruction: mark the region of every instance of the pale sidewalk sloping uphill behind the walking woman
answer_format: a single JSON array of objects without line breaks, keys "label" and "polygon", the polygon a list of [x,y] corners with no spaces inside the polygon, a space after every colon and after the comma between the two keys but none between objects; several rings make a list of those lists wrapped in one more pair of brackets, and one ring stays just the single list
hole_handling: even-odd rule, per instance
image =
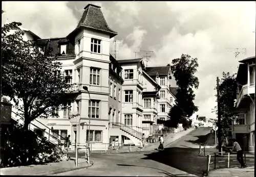
[{"label": "pale sidewalk sloping uphill behind the walking woman", "polygon": [[[170,134],[168,134],[166,137],[163,138],[164,147],[168,146],[170,143],[180,139],[181,137],[189,134],[190,132],[192,132],[194,130],[196,130],[196,129],[190,128],[190,129],[184,130],[184,131],[179,132],[179,133],[170,133]],[[159,141],[146,146],[144,149],[141,149],[141,151],[154,150],[154,149],[158,148],[158,146],[159,146]]]}]

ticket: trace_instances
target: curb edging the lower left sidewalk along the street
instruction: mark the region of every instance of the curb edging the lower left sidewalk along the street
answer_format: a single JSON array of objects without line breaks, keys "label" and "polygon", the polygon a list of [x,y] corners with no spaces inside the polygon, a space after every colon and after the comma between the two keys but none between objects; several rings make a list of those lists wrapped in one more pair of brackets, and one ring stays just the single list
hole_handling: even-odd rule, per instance
[{"label": "curb edging the lower left sidewalk along the street", "polygon": [[30,174],[24,174],[24,175],[52,175],[52,174],[58,174],[58,173],[73,171],[73,170],[79,170],[79,169],[82,169],[82,168],[89,168],[93,165],[94,165],[94,162],[92,161],[90,163],[90,165],[88,165],[88,166],[80,166],[80,167],[73,167],[73,168],[60,168],[60,169],[56,169],[56,170],[43,171],[43,172],[38,172],[38,173],[30,173]]}]

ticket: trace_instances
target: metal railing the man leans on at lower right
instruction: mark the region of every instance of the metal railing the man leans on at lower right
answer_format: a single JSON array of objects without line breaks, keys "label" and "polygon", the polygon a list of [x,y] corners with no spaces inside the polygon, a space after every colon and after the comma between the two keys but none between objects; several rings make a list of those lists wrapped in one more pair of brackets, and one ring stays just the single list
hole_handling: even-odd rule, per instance
[{"label": "metal railing the man leans on at lower right", "polygon": [[[249,147],[252,147],[252,146],[249,146]],[[246,159],[246,154],[248,153],[254,153],[254,151],[244,151],[243,152],[243,158],[244,158],[244,164],[246,164],[246,161],[254,161],[254,155],[251,156],[252,158],[249,158],[247,157]],[[220,155],[222,154],[222,155]],[[223,156],[223,154],[225,154],[226,156]],[[208,175],[209,171],[211,170],[211,166],[212,164],[214,164],[214,169],[217,168],[217,163],[227,163],[226,166],[227,168],[230,167],[230,162],[233,162],[233,161],[237,161],[237,163],[239,164],[238,160],[237,159],[232,159],[232,158],[237,158],[237,157],[230,157],[230,155],[232,154],[237,154],[237,152],[233,152],[233,153],[222,153],[222,152],[219,152],[219,153],[210,153],[207,155],[207,167],[206,167],[206,175]],[[213,157],[213,158],[212,158]],[[217,161],[217,158],[223,158],[219,161]],[[225,159],[227,158],[227,159]],[[211,161],[213,159],[213,161]]]}]

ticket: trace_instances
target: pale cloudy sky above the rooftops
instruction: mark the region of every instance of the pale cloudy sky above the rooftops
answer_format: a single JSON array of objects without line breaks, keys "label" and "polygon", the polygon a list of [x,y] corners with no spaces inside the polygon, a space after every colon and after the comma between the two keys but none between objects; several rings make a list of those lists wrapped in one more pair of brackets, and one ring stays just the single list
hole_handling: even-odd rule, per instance
[{"label": "pale cloudy sky above the rooftops", "polygon": [[[153,51],[147,66],[166,66],[182,54],[198,58],[198,115],[215,118],[216,78],[236,73],[240,60],[255,55],[255,7],[250,2],[2,2],[2,22],[18,21],[41,38],[65,37],[87,4],[101,6],[118,33],[117,59]],[[236,58],[234,52],[241,52]],[[246,48],[244,50],[243,48]],[[136,58],[144,56],[137,53]],[[172,83],[175,83],[173,81]]]}]

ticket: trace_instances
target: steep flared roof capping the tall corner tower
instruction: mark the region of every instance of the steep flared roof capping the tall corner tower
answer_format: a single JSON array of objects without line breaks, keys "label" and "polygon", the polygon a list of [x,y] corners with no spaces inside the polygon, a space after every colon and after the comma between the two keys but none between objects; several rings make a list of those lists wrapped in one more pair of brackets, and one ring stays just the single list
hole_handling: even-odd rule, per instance
[{"label": "steep flared roof capping the tall corner tower", "polygon": [[[103,33],[110,34],[110,38],[117,35],[117,32],[113,31],[106,22],[104,15],[100,9],[100,6],[93,4],[88,4],[84,8],[81,19],[78,22],[76,29],[69,35],[73,34],[78,29],[85,27],[96,31],[101,31]],[[68,36],[69,36],[68,35]]]}]

